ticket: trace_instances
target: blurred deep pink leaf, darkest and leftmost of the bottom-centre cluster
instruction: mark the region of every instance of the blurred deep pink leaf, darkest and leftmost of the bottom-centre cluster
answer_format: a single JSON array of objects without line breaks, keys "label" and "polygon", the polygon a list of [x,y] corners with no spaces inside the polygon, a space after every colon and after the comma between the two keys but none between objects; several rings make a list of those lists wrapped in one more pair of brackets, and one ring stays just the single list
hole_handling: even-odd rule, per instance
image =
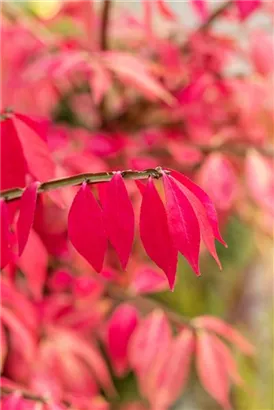
[{"label": "blurred deep pink leaf, darkest and leftmost of the bottom-centre cluster", "polygon": [[114,311],[107,324],[107,349],[112,366],[119,377],[125,375],[129,369],[128,345],[137,323],[136,308],[124,303]]}]

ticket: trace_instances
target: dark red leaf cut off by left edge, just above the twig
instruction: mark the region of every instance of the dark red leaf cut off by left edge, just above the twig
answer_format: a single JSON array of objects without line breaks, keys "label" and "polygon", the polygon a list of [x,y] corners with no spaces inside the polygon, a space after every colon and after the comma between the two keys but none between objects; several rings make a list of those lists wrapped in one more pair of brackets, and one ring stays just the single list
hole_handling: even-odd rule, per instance
[{"label": "dark red leaf cut off by left edge, just above the twig", "polygon": [[11,119],[0,121],[0,189],[25,186],[27,164]]}]

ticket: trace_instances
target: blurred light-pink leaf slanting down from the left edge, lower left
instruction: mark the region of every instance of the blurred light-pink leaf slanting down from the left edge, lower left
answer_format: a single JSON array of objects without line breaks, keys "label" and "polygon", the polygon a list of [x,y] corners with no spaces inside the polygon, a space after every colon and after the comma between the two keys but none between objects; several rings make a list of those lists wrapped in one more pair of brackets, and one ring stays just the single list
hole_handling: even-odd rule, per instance
[{"label": "blurred light-pink leaf slanting down from the left edge, lower left", "polygon": [[21,345],[24,346],[22,352],[26,358],[33,360],[36,352],[36,343],[32,333],[24,326],[22,321],[5,306],[0,306],[0,319],[10,332],[16,336]]}]

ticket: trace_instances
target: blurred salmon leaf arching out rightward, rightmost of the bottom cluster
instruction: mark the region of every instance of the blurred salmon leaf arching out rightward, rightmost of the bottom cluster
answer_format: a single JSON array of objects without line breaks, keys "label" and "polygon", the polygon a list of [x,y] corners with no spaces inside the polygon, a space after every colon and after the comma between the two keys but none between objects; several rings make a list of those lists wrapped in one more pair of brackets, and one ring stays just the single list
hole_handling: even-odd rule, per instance
[{"label": "blurred salmon leaf arching out rightward, rightmost of the bottom cluster", "polygon": [[243,353],[254,354],[254,347],[236,329],[213,316],[201,316],[194,320],[195,326],[213,331],[234,343]]}]

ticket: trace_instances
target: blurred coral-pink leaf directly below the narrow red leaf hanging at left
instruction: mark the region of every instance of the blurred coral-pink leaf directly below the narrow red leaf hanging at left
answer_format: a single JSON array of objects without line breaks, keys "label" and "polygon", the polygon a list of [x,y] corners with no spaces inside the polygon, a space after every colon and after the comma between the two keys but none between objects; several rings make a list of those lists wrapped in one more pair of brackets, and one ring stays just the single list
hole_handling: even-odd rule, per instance
[{"label": "blurred coral-pink leaf directly below the narrow red leaf hanging at left", "polygon": [[41,299],[47,276],[48,253],[40,237],[32,229],[18,265],[27,278],[32,295],[37,300]]}]

